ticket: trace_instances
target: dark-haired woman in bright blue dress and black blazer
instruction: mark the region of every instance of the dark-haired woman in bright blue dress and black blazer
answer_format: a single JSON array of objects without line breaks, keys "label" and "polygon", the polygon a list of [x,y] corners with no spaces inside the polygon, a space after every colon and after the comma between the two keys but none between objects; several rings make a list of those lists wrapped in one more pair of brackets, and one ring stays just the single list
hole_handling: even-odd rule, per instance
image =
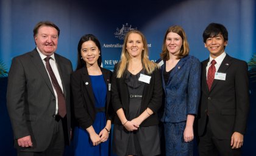
[{"label": "dark-haired woman in bright blue dress and black blazer", "polygon": [[76,156],[110,154],[110,70],[101,67],[101,44],[94,35],[84,35],[77,46],[76,71],[71,76]]}]

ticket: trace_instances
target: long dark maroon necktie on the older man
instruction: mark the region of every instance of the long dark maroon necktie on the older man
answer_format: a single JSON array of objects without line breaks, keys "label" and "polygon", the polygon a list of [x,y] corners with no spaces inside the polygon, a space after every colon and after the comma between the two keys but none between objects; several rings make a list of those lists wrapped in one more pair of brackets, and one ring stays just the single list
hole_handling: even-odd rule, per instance
[{"label": "long dark maroon necktie on the older man", "polygon": [[59,113],[60,117],[63,118],[66,115],[65,98],[62,93],[62,89],[60,88],[60,85],[57,81],[57,78],[55,77],[54,72],[52,71],[52,67],[51,67],[50,61],[49,61],[50,59],[51,59],[51,57],[47,57],[47,58],[44,58],[44,61],[46,62],[46,69],[48,70],[49,75],[51,77],[52,85],[54,86],[54,89],[57,92],[58,107],[59,107],[58,113]]}]

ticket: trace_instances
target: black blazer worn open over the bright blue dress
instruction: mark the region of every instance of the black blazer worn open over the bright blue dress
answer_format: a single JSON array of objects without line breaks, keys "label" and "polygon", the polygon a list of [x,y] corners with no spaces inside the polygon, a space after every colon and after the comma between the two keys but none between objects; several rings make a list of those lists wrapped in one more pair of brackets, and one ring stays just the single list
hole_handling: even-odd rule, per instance
[{"label": "black blazer worn open over the bright blue dress", "polygon": [[[112,106],[110,105],[110,84],[112,72],[101,68],[104,76],[105,85],[107,87],[107,100],[105,104],[105,112],[107,120],[112,120]],[[80,127],[87,129],[93,125],[96,115],[95,98],[93,95],[93,87],[91,86],[90,76],[87,68],[77,70],[71,76],[71,88],[73,92],[74,116]]]}]

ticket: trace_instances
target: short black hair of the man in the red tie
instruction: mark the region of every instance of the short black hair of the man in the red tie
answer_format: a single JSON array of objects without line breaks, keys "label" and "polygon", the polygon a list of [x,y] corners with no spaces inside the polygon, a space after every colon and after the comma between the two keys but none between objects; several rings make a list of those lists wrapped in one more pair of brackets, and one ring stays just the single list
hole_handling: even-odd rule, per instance
[{"label": "short black hair of the man in the red tie", "polygon": [[210,23],[204,30],[204,33],[203,33],[203,39],[204,39],[204,43],[206,42],[206,39],[207,38],[210,38],[210,37],[215,37],[217,36],[218,34],[221,34],[224,38],[224,41],[227,41],[229,38],[228,38],[228,32],[227,32],[227,29],[226,27],[224,27],[224,25],[222,24],[218,24],[218,23]]}]

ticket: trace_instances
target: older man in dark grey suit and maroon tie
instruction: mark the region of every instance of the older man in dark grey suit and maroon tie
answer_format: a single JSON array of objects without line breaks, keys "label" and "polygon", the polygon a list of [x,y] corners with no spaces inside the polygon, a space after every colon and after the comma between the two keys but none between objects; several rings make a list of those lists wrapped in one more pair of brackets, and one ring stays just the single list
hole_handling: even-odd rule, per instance
[{"label": "older man in dark grey suit and maroon tie", "polygon": [[36,48],[12,60],[7,108],[18,155],[63,155],[71,132],[69,59],[55,53],[60,30],[49,21],[34,28]]}]

